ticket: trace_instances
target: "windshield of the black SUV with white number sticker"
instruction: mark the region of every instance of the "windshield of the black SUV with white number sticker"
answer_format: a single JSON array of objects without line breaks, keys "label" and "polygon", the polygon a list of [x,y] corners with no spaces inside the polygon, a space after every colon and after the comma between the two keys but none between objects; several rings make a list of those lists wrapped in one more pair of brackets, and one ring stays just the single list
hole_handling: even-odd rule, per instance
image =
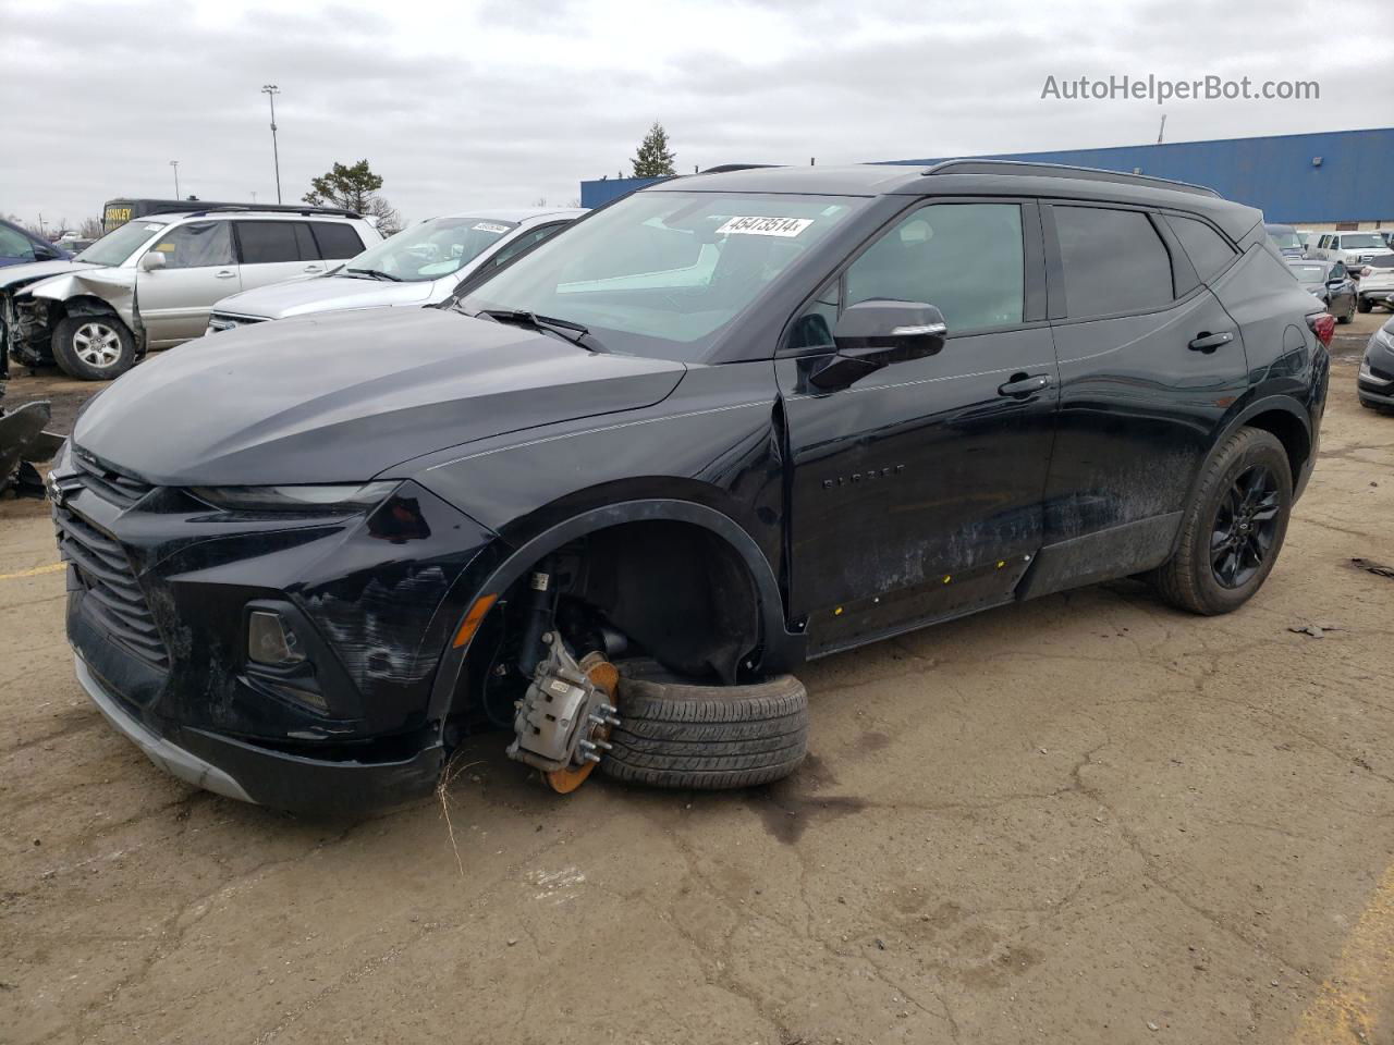
[{"label": "windshield of the black SUV with white number sticker", "polygon": [[460,302],[588,327],[608,351],[698,361],[856,196],[637,192],[542,244]]}]

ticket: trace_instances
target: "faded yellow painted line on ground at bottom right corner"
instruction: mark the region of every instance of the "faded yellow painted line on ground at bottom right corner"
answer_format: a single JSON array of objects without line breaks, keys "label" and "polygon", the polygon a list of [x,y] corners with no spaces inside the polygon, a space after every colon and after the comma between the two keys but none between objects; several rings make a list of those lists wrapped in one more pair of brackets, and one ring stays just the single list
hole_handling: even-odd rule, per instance
[{"label": "faded yellow painted line on ground at bottom right corner", "polygon": [[1394,865],[1341,947],[1341,957],[1302,1013],[1292,1045],[1363,1045],[1376,1041],[1380,1016],[1394,1010]]}]

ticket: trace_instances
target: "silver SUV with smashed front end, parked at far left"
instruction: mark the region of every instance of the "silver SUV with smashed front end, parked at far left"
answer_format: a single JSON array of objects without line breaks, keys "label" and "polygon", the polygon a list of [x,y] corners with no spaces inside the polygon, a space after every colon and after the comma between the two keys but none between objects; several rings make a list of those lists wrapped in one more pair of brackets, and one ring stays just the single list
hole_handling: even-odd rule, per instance
[{"label": "silver SUV with smashed front end, parked at far left", "polygon": [[6,343],[31,366],[107,380],[202,334],[229,291],[319,274],[381,241],[358,215],[325,208],[141,217],[72,261],[0,273]]}]

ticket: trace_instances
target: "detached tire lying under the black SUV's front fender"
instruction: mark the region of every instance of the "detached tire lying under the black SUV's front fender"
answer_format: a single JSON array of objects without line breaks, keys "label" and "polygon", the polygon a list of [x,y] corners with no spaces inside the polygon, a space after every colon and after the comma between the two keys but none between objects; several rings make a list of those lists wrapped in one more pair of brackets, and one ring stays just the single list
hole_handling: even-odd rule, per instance
[{"label": "detached tire lying under the black SUV's front fender", "polygon": [[809,750],[809,694],[792,674],[753,686],[620,679],[608,776],[718,790],[789,776]]}]

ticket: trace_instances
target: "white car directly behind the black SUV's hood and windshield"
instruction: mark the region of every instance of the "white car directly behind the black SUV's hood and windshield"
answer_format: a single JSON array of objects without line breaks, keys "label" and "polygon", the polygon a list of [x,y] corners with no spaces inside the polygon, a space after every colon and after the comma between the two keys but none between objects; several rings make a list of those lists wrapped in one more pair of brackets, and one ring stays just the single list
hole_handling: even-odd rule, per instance
[{"label": "white car directly behind the black SUV's hood and windshield", "polygon": [[311,312],[434,305],[560,231],[584,210],[470,210],[434,217],[369,247],[316,279],[233,294],[213,305],[208,333]]}]

